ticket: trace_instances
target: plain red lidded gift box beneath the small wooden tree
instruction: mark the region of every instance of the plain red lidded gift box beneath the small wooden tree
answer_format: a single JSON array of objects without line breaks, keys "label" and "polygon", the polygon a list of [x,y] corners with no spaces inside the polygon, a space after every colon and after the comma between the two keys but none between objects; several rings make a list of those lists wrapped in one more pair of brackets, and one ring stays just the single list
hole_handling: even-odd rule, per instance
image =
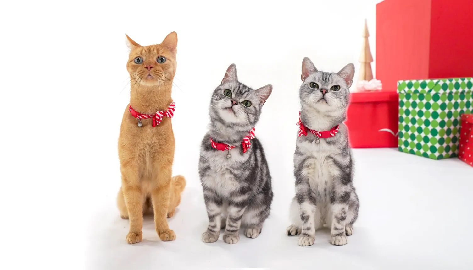
[{"label": "plain red lidded gift box beneath the small wooden tree", "polygon": [[398,113],[394,91],[352,92],[345,122],[351,147],[397,147]]}]

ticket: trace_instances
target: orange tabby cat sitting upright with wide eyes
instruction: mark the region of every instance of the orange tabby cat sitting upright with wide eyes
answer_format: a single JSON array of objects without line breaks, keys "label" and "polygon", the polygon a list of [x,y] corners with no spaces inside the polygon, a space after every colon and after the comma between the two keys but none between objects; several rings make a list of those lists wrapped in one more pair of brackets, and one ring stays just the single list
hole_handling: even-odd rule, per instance
[{"label": "orange tabby cat sitting upright with wide eyes", "polygon": [[153,127],[155,119],[139,121],[131,114],[129,106],[140,114],[150,115],[168,109],[176,70],[177,34],[172,32],[161,44],[150,46],[141,46],[128,35],[126,37],[131,48],[126,64],[131,79],[131,97],[118,139],[122,172],[118,209],[123,219],[130,219],[130,231],[126,236],[129,244],[141,241],[143,214],[151,211],[159,238],[171,241],[176,236],[169,229],[166,216],[174,215],[185,187],[184,177],[171,177],[175,147],[171,119],[165,115],[162,122]]}]

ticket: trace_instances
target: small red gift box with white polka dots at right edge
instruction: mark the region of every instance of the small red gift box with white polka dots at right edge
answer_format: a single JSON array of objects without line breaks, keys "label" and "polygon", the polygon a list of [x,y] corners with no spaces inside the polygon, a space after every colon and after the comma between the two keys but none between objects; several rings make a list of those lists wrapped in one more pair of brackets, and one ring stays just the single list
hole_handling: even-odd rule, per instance
[{"label": "small red gift box with white polka dots at right edge", "polygon": [[462,114],[458,158],[473,166],[473,113]]}]

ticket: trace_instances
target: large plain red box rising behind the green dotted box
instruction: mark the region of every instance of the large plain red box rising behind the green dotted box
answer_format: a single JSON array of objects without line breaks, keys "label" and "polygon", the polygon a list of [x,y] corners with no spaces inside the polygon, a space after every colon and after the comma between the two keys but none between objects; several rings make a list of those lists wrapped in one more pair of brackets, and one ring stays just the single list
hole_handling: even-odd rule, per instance
[{"label": "large plain red box rising behind the green dotted box", "polygon": [[473,0],[385,0],[376,6],[376,78],[473,76]]}]

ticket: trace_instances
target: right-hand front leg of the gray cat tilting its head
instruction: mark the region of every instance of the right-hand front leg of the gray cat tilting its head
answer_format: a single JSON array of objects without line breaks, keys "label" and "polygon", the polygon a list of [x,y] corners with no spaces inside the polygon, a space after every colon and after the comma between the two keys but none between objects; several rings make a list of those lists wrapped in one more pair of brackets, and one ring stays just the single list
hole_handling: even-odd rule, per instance
[{"label": "right-hand front leg of the gray cat tilting its head", "polygon": [[228,217],[223,241],[228,244],[236,244],[240,240],[241,219],[245,213],[246,205],[241,202],[228,202]]}]

